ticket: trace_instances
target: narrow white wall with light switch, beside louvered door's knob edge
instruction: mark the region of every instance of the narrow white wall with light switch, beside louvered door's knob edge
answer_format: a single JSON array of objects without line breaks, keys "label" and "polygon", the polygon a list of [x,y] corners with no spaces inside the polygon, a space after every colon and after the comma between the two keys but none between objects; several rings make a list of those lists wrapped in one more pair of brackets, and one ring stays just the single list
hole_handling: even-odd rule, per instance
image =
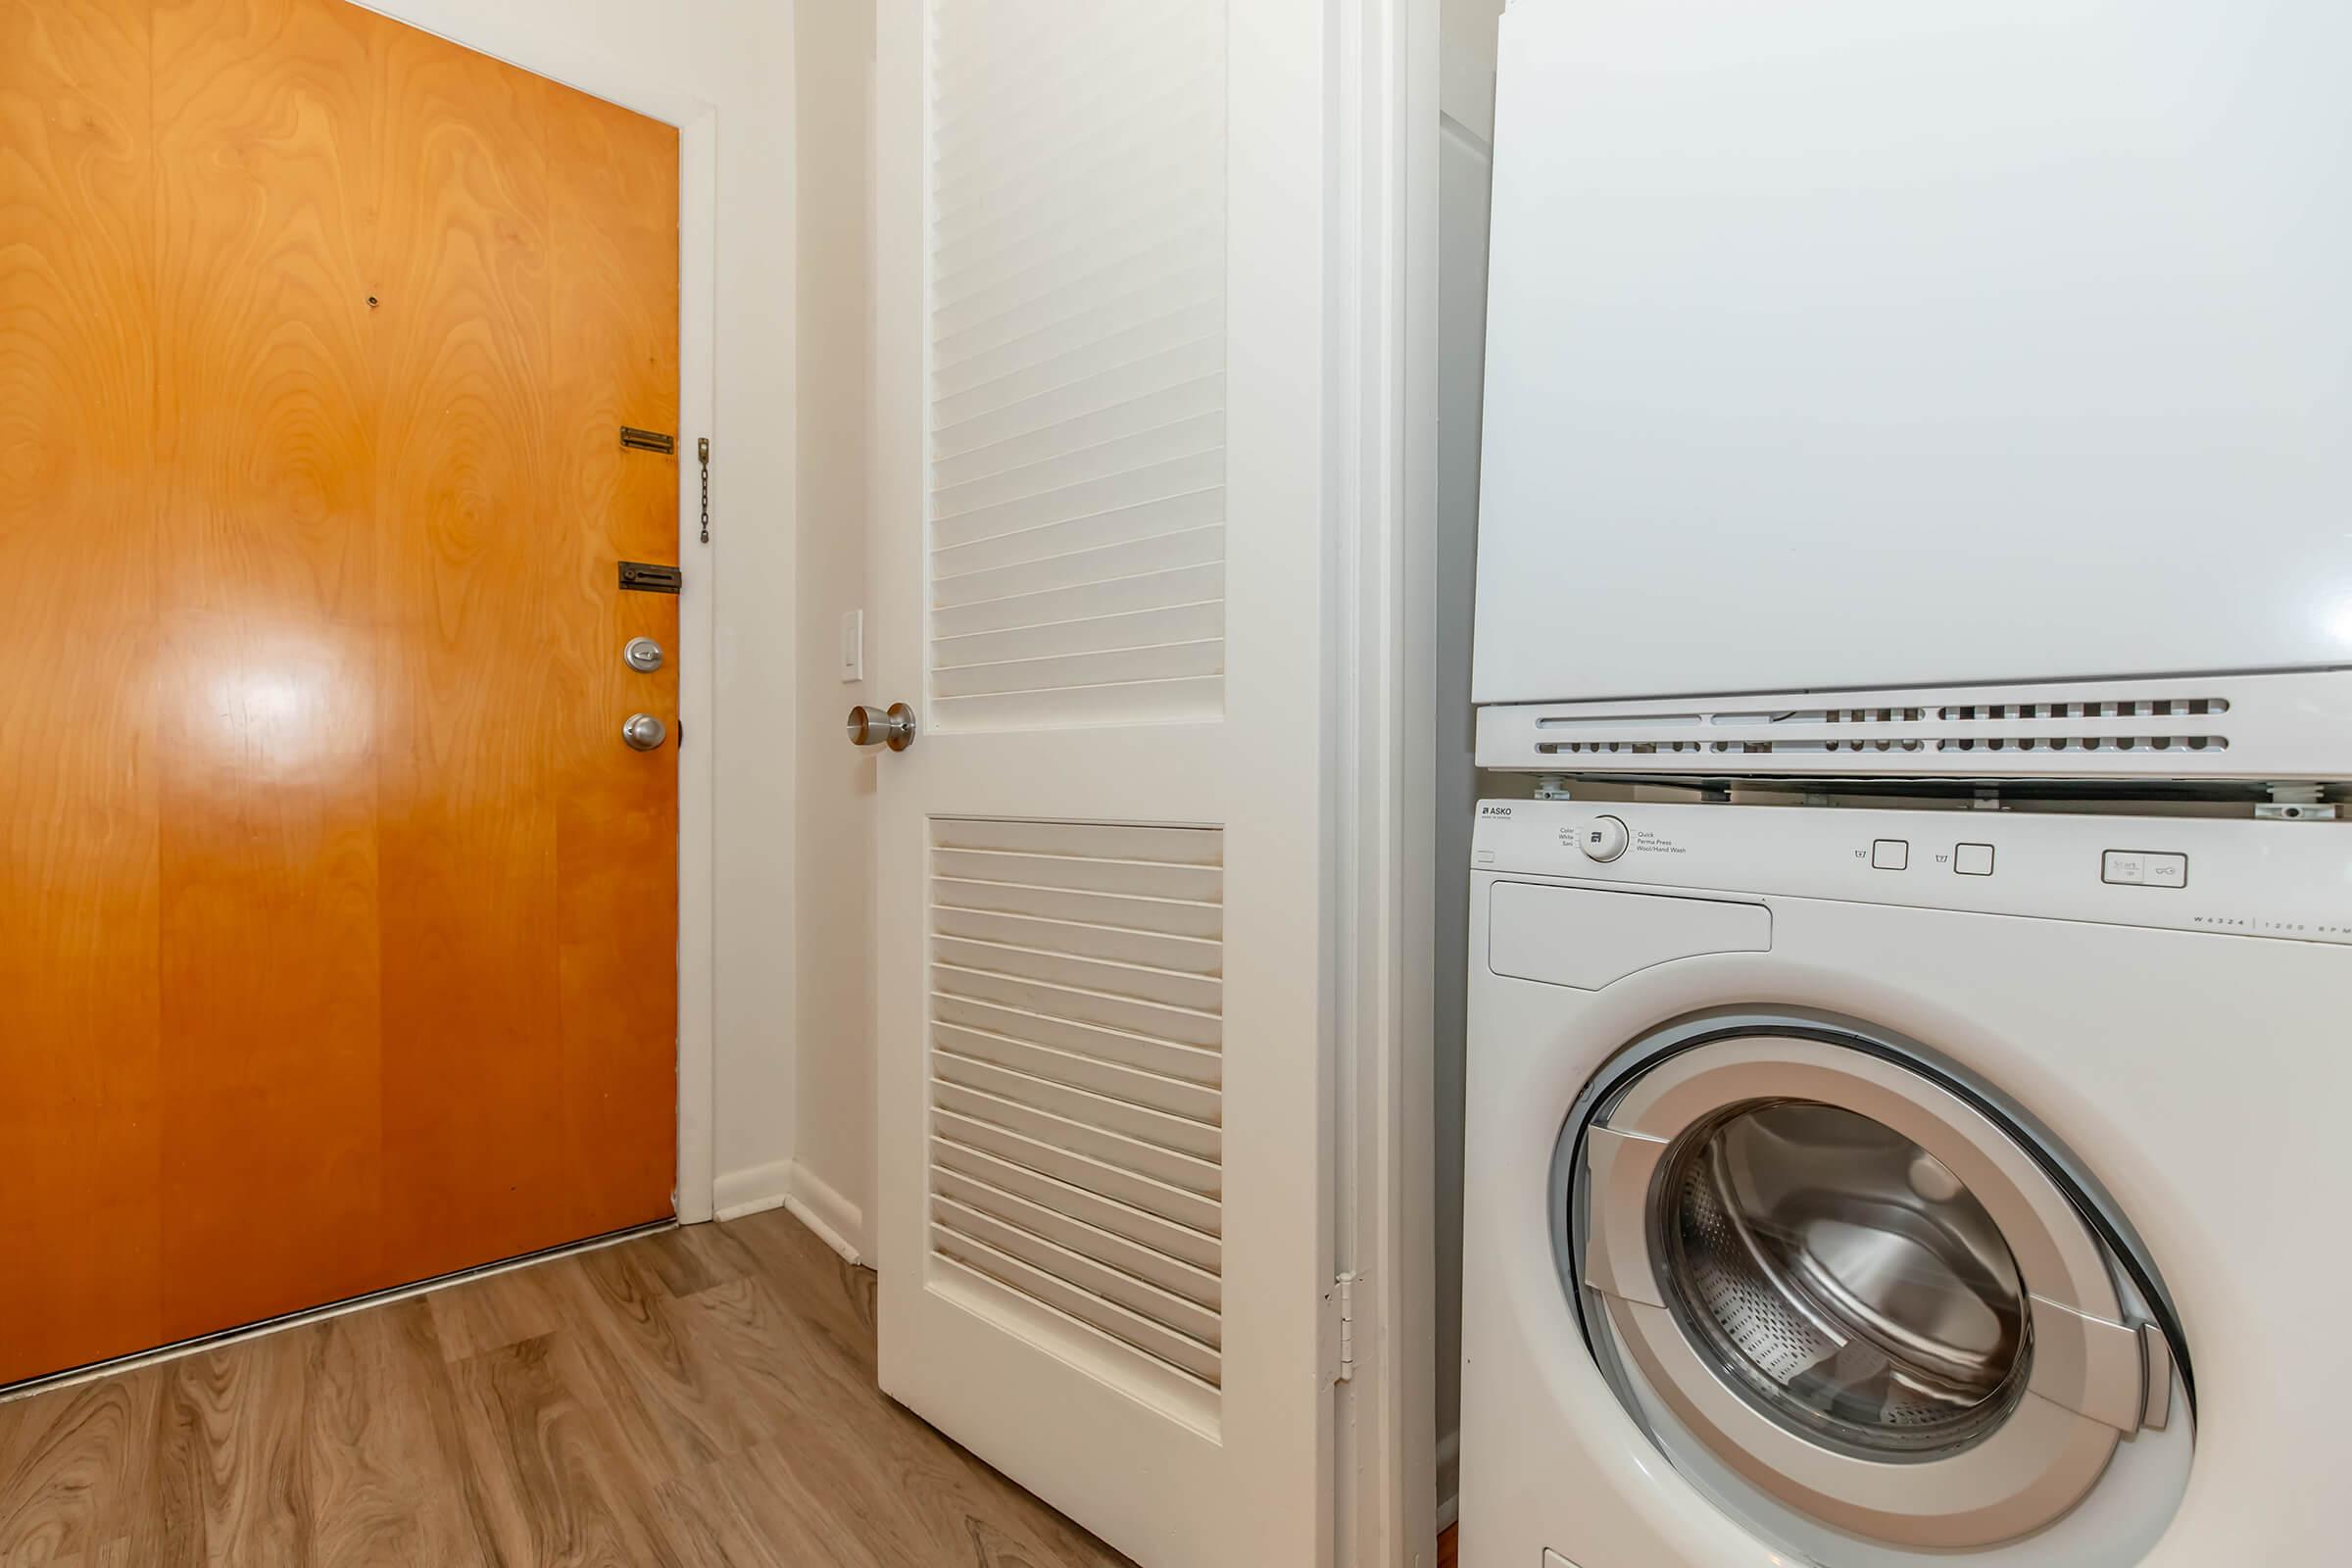
[{"label": "narrow white wall with light switch, beside louvered door's knob edge", "polygon": [[840,618],[868,609],[866,428],[873,348],[873,0],[800,7],[800,1135],[788,1192],[873,1258],[875,755],[851,703],[913,693],[840,679]]}]

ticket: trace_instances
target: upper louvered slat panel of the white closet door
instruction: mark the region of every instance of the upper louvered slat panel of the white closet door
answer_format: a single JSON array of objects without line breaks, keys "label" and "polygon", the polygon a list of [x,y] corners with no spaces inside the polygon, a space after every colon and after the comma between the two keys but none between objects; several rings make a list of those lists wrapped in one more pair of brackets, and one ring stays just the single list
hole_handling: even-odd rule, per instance
[{"label": "upper louvered slat panel of the white closet door", "polygon": [[[1223,710],[1225,16],[936,0],[934,729]],[[985,637],[985,642],[981,642]]]}]

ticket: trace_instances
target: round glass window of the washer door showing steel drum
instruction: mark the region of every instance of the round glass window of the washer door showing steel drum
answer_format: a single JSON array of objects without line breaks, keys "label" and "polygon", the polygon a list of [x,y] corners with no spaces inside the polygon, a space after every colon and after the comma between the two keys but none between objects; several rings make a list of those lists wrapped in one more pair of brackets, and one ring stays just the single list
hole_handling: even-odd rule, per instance
[{"label": "round glass window of the washer door showing steel drum", "polygon": [[2023,1394],[2016,1258],[1903,1133],[1835,1105],[1740,1105],[1682,1138],[1658,1194],[1668,1305],[1783,1425],[1875,1460],[1943,1458]]}]

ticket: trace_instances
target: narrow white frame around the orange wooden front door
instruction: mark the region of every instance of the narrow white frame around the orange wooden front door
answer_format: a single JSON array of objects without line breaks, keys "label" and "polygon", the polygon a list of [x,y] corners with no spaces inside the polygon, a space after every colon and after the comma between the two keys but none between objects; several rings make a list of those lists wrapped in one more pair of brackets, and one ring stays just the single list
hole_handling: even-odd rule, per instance
[{"label": "narrow white frame around the orange wooden front door", "polygon": [[[677,127],[677,1220],[713,1213],[715,1067],[715,689],[717,545],[696,543],[701,468],[694,437],[717,430],[717,106],[666,71],[607,56],[581,38],[452,0],[358,0],[362,9],[447,38],[550,82]],[[783,85],[790,89],[790,82]],[[790,609],[786,609],[790,614]]]}]

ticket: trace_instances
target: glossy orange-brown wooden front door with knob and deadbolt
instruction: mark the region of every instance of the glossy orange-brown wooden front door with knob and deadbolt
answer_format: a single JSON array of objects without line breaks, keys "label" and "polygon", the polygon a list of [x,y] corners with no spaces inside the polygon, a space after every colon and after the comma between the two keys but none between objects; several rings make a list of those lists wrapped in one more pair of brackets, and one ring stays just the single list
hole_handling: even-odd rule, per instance
[{"label": "glossy orange-brown wooden front door with knob and deadbolt", "polygon": [[670,127],[0,5],[0,1382],[670,1213],[675,421]]}]

